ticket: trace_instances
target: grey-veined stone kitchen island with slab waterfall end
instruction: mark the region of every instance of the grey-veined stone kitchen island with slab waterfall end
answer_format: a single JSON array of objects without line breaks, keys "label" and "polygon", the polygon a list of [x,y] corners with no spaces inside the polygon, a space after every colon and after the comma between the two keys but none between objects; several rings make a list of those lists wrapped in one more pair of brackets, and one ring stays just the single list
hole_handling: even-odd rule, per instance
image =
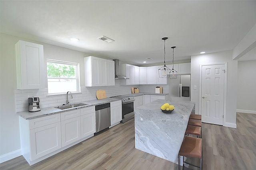
[{"label": "grey-veined stone kitchen island with slab waterfall end", "polygon": [[[173,105],[163,113],[164,103]],[[188,125],[193,102],[156,100],[134,109],[135,148],[178,164],[178,152]]]}]

